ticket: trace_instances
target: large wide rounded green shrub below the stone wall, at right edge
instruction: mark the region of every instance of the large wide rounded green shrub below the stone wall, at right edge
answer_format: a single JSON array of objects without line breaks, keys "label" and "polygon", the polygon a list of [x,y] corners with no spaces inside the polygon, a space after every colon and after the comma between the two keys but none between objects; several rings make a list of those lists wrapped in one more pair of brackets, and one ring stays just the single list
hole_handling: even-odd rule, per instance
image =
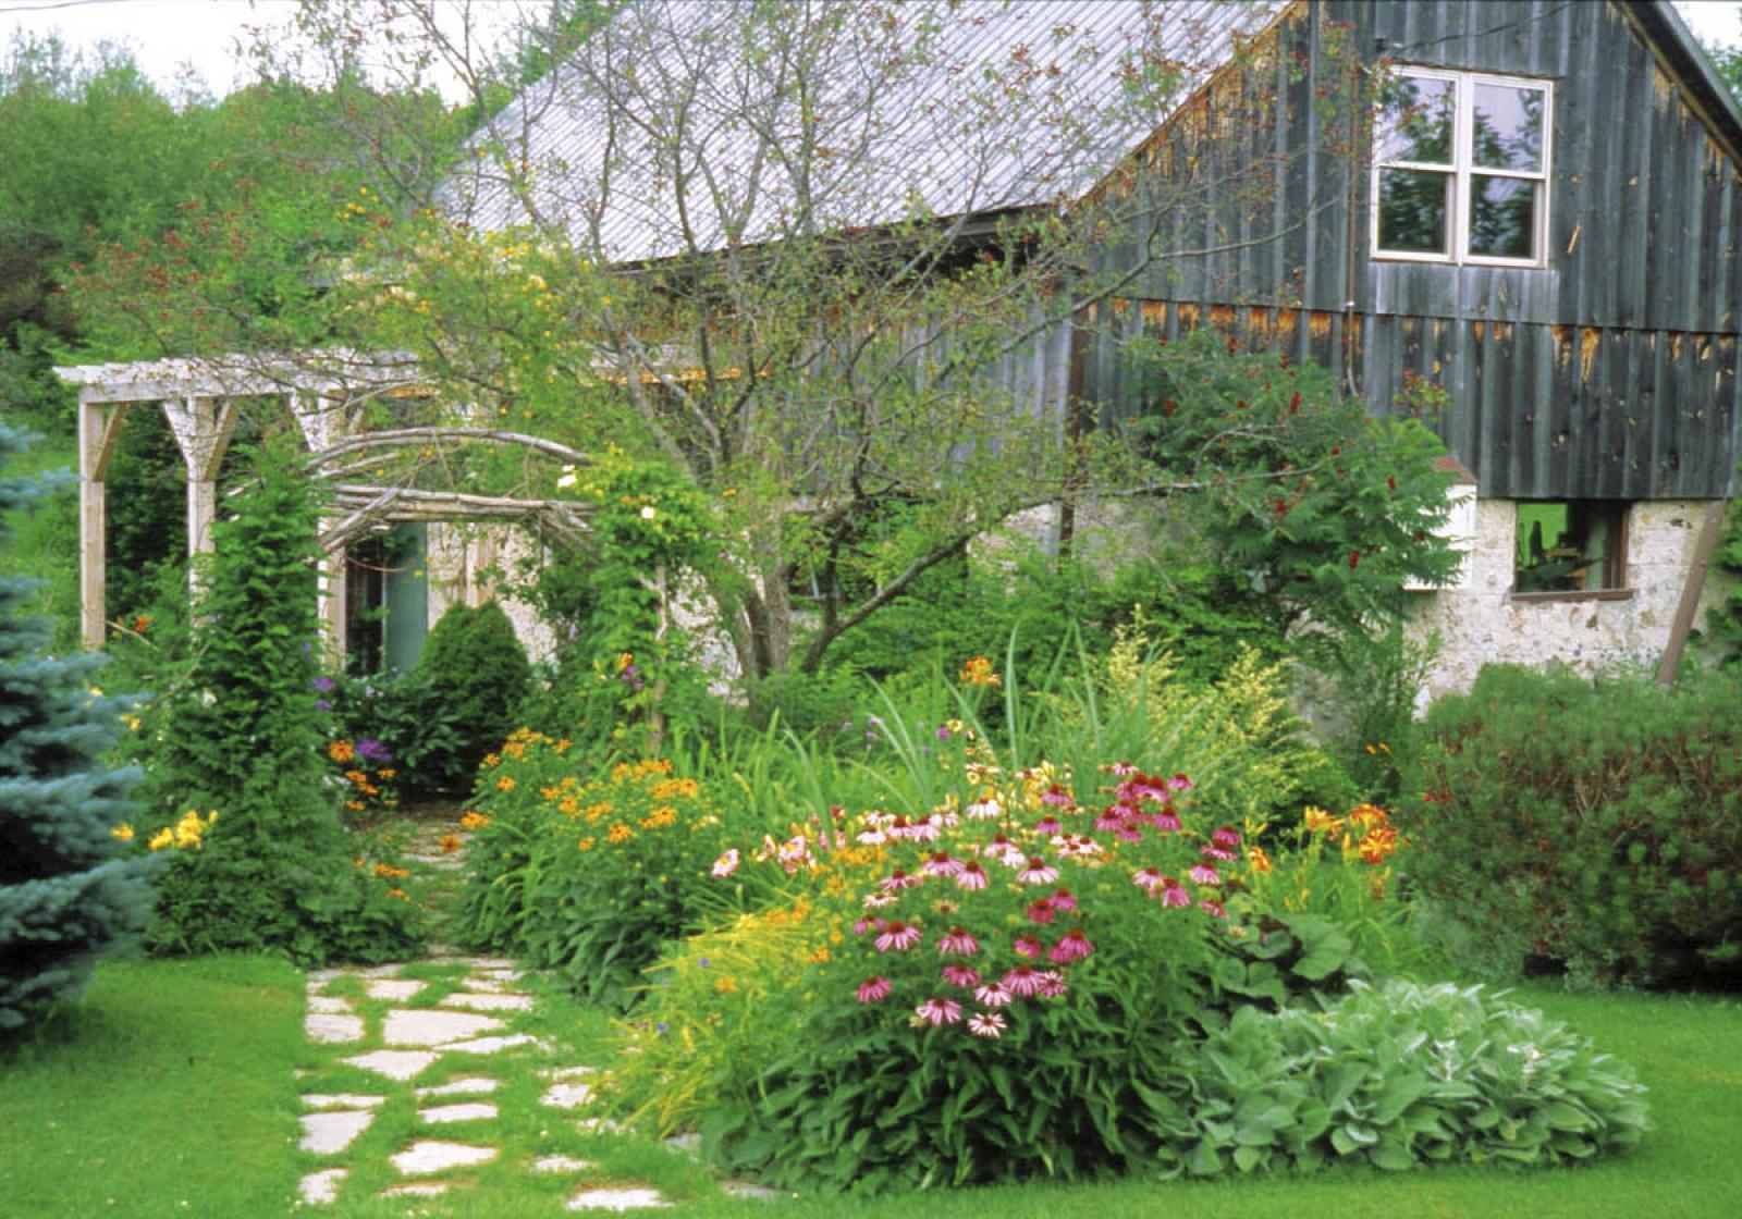
[{"label": "large wide rounded green shrub below the stone wall, at right edge", "polygon": [[[1486,965],[1599,982],[1737,977],[1742,677],[1486,667],[1428,712],[1399,810],[1434,918]],[[1500,958],[1498,961],[1495,958]]]}]

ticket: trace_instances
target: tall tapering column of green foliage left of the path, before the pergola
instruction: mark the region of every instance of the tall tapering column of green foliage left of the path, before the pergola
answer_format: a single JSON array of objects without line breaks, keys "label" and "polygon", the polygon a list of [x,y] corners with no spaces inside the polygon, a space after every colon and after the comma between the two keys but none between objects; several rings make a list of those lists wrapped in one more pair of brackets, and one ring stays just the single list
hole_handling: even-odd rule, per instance
[{"label": "tall tapering column of green foliage left of the path, before the pergola", "polygon": [[[146,926],[159,951],[277,949],[298,961],[381,960],[415,942],[409,904],[352,867],[324,780],[315,714],[317,507],[284,455],[213,524],[197,660],[146,717],[136,841],[172,827]],[[209,815],[216,813],[216,818]],[[192,831],[188,817],[206,818]]]}]

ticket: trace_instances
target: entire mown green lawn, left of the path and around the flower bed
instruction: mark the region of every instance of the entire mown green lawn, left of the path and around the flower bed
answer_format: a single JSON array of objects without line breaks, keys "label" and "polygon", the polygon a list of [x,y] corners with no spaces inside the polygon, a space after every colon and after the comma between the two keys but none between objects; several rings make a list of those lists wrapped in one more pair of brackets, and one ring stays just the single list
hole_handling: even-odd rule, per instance
[{"label": "entire mown green lawn, left of the path and around the flower bed", "polygon": [[[1451,1168],[1218,1184],[1028,1186],[881,1200],[690,1202],[683,1214],[1118,1219],[1737,1219],[1742,1216],[1742,1003],[1519,993],[1629,1059],[1657,1128],[1637,1153],[1556,1172]],[[547,1003],[559,1003],[550,1000]],[[547,1008],[563,1019],[559,1010]],[[277,961],[117,961],[87,1001],[0,1057],[0,1216],[280,1216],[296,1155],[301,979]],[[582,1014],[573,1012],[577,1022]],[[585,1020],[596,1024],[596,1017]],[[639,1141],[636,1141],[639,1142]],[[658,1184],[665,1153],[624,1148]],[[627,1165],[625,1165],[627,1167]],[[676,1168],[678,1165],[672,1165]],[[685,1167],[686,1168],[686,1167]],[[430,1216],[563,1214],[549,1188],[416,1200]],[[706,1191],[704,1191],[706,1193]],[[695,1196],[690,1189],[676,1196]],[[408,1212],[406,1202],[343,1214]]]}]

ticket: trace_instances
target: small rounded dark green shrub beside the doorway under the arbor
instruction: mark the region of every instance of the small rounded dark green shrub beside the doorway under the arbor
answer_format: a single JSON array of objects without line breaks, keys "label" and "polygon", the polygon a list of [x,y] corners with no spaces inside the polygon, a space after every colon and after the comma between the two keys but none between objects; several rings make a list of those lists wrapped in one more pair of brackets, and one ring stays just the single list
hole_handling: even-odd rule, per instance
[{"label": "small rounded dark green shrub beside the doorway under the arbor", "polygon": [[517,724],[531,684],[526,648],[500,604],[456,601],[430,630],[413,672],[427,683],[430,704],[460,728],[455,749],[423,742],[418,782],[429,791],[463,791],[484,754]]}]

